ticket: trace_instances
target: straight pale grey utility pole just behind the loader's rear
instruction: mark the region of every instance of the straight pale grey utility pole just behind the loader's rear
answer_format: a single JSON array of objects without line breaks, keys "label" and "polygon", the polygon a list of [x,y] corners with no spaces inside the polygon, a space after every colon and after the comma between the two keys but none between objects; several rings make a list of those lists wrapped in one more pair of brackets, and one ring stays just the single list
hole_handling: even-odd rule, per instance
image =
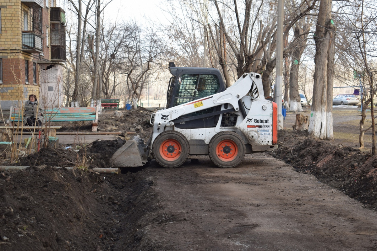
[{"label": "straight pale grey utility pole just behind the loader's rear", "polygon": [[282,86],[283,86],[283,16],[284,0],[277,0],[277,37],[276,37],[276,81],[274,102],[277,103],[277,129],[283,129]]}]

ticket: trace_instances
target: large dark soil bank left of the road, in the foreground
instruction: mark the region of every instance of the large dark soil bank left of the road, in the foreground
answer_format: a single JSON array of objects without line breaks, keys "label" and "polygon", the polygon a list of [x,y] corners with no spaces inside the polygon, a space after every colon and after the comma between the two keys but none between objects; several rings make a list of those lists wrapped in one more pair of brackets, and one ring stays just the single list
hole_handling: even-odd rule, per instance
[{"label": "large dark soil bank left of the road, in the foreground", "polygon": [[[138,221],[153,211],[140,171],[101,175],[30,167],[0,173],[1,250],[135,250]],[[147,250],[147,249],[144,249]]]}]

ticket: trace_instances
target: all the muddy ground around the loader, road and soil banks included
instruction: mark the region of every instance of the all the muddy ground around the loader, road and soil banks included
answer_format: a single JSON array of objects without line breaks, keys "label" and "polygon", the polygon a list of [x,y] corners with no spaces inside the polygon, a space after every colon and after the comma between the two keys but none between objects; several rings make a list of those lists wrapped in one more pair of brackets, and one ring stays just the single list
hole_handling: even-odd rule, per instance
[{"label": "all the muddy ground around the loader, road and soil banks included", "polygon": [[117,140],[2,161],[31,167],[0,172],[0,250],[377,249],[376,160],[369,142],[357,149],[357,110],[334,111],[334,132],[346,135],[334,141],[293,132],[288,113],[279,148],[234,169],[194,156],[176,169],[151,161],[118,175],[93,172],[109,166],[126,132],[151,132],[150,111],[122,113],[99,117],[101,130],[123,131]]}]

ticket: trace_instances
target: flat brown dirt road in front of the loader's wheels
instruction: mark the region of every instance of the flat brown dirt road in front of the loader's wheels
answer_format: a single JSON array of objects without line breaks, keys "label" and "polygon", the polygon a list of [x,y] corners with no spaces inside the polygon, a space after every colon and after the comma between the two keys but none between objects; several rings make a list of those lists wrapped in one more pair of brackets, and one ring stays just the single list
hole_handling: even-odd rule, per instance
[{"label": "flat brown dirt road in front of the loader's wheels", "polygon": [[234,169],[193,162],[147,168],[161,209],[138,231],[155,250],[377,249],[375,212],[282,161],[255,154]]}]

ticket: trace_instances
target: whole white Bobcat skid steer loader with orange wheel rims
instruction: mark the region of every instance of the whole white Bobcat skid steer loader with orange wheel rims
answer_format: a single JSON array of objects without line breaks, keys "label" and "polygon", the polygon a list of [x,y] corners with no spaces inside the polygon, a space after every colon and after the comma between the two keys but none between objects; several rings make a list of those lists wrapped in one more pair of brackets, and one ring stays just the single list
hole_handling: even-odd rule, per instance
[{"label": "whole white Bobcat skid steer loader with orange wheel rims", "polygon": [[190,155],[209,155],[219,167],[235,167],[245,154],[277,148],[277,104],[265,99],[261,75],[245,73],[225,88],[213,68],[170,63],[167,107],[153,113],[148,142],[136,136],[111,158],[114,167],[181,166]]}]

